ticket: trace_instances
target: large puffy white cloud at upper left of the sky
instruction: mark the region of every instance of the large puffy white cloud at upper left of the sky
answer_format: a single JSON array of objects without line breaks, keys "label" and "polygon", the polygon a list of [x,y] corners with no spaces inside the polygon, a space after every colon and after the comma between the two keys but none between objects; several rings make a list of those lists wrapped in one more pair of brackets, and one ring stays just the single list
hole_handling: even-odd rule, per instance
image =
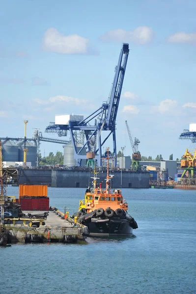
[{"label": "large puffy white cloud at upper left of the sky", "polygon": [[51,27],[44,34],[43,50],[61,54],[87,54],[90,50],[89,40],[77,34],[65,36]]}]

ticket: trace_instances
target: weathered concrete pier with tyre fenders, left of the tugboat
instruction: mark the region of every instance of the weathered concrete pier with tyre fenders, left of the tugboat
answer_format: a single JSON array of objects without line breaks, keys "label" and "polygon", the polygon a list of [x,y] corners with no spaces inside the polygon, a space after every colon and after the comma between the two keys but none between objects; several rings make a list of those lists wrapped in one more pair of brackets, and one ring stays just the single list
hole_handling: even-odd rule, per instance
[{"label": "weathered concrete pier with tyre fenders, left of the tugboat", "polygon": [[[7,243],[31,243],[31,242],[77,242],[84,241],[89,235],[88,228],[79,223],[75,223],[73,219],[64,219],[64,214],[57,211],[50,211],[47,219],[39,219],[40,214],[44,212],[23,211],[26,217],[14,218],[15,224],[1,225],[1,230],[6,230]],[[33,214],[33,219],[28,219],[28,213]],[[37,213],[37,217],[34,216]],[[11,219],[10,219],[11,220]],[[40,224],[35,225],[38,221]],[[6,222],[6,220],[5,220]],[[24,224],[26,223],[26,224]]]}]

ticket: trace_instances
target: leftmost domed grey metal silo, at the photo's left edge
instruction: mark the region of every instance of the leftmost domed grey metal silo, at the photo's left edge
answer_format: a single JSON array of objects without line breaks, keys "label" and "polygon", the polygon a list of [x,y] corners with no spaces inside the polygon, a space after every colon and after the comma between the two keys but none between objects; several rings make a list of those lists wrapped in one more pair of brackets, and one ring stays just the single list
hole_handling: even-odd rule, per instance
[{"label": "leftmost domed grey metal silo, at the photo's left edge", "polygon": [[2,142],[2,159],[3,161],[18,161],[18,146],[13,141]]}]

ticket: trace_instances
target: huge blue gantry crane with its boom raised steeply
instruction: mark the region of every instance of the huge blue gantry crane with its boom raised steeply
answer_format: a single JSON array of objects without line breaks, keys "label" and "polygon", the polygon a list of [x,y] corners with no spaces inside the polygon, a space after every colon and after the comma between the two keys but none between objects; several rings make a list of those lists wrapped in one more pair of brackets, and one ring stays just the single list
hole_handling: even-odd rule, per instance
[{"label": "huge blue gantry crane with its boom raised steeply", "polygon": [[[93,158],[95,158],[95,160],[97,160],[98,162],[98,165],[101,166],[101,158],[103,157],[102,146],[111,135],[113,139],[113,156],[115,157],[114,165],[116,166],[115,124],[128,55],[129,44],[123,43],[118,59],[118,65],[115,68],[114,80],[112,83],[112,89],[108,101],[103,102],[101,107],[99,107],[91,115],[81,121],[73,119],[69,122],[64,122],[60,124],[50,123],[50,125],[46,127],[46,132],[55,132],[58,134],[58,136],[66,136],[67,131],[69,130],[74,147],[74,158],[76,159],[77,165],[79,166],[81,165],[82,159],[86,159],[86,155],[84,155],[85,148],[87,149],[88,153],[94,153]],[[91,124],[92,120],[94,120],[93,125]],[[85,142],[80,150],[77,149],[77,144],[74,136],[74,132],[78,130],[84,131],[85,134]],[[108,134],[102,142],[101,135],[103,131],[108,131]],[[92,142],[94,143],[92,144]]]}]

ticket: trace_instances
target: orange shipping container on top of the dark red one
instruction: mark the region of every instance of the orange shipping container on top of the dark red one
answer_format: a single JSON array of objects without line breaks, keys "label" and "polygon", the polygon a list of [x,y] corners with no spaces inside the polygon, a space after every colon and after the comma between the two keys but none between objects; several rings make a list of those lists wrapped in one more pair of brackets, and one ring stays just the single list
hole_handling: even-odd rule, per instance
[{"label": "orange shipping container on top of the dark red one", "polygon": [[47,185],[19,185],[20,196],[48,196]]}]

